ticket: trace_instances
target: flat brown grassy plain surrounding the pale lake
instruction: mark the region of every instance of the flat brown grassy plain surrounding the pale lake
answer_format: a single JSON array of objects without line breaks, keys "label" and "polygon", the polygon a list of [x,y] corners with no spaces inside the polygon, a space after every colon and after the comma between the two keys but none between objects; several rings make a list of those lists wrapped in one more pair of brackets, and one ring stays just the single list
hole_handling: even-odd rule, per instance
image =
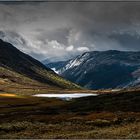
[{"label": "flat brown grassy plain surrounding the pale lake", "polygon": [[41,87],[37,89],[16,86],[1,88],[1,139],[140,138],[139,90],[113,93],[106,91],[96,97],[64,101],[31,95],[79,91],[47,91]]}]

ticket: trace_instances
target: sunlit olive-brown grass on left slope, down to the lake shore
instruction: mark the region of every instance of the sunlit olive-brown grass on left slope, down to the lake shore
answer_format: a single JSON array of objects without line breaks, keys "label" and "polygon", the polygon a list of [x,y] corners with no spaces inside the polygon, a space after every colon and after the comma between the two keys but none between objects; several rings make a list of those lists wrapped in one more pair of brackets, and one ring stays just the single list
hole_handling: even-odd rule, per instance
[{"label": "sunlit olive-brown grass on left slope, down to the lake shore", "polygon": [[42,72],[43,70],[38,71],[40,75],[47,77],[49,81],[53,81],[53,85],[41,83],[8,68],[0,67],[0,91],[20,95],[31,95],[36,93],[61,92],[62,89],[63,91],[69,89],[81,90],[78,85],[64,80],[51,71]]}]

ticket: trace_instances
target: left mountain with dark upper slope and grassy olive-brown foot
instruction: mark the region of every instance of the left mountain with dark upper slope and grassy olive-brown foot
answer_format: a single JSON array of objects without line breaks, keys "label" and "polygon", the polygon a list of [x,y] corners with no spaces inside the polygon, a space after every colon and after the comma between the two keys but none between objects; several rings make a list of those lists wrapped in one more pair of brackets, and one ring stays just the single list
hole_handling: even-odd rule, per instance
[{"label": "left mountain with dark upper slope and grassy olive-brown foot", "polygon": [[41,62],[0,40],[0,83],[45,85],[49,88],[78,89]]}]

